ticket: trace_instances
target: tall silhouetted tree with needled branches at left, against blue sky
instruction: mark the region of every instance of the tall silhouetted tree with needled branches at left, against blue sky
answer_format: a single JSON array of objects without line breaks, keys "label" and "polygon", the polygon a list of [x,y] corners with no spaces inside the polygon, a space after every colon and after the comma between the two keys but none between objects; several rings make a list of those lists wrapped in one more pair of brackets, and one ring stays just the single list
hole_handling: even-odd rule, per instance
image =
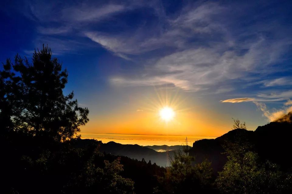
[{"label": "tall silhouetted tree with needled branches at left, against blue sky", "polygon": [[16,55],[0,71],[0,119],[6,130],[21,131],[54,141],[74,137],[85,125],[89,110],[72,100],[74,93],[63,94],[68,82],[67,69],[52,58],[50,48],[34,52],[32,64]]}]

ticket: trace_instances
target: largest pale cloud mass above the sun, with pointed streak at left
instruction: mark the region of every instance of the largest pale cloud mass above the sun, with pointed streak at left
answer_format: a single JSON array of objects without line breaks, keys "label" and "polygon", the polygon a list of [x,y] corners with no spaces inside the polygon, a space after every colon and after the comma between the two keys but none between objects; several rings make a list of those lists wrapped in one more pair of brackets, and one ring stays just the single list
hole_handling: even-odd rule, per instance
[{"label": "largest pale cloud mass above the sun, with pointed streak at left", "polygon": [[[281,61],[280,56],[291,41],[271,40],[257,35],[243,43],[240,39],[246,35],[242,34],[240,38],[232,36],[230,29],[217,22],[226,9],[217,3],[205,3],[185,10],[176,19],[164,21],[167,30],[160,32],[159,28],[151,29],[159,31],[158,35],[150,37],[143,34],[143,31],[149,32],[149,29],[137,30],[130,36],[121,33],[104,35],[100,32],[85,32],[85,36],[127,60],[130,59],[129,54],[143,56],[159,48],[174,50],[160,56],[157,52],[156,56],[151,57],[151,62],[141,61],[147,77],[117,76],[120,77],[120,83],[124,84],[162,85],[166,82],[186,91],[199,91],[227,81],[232,83],[235,80],[251,79],[253,74],[258,74],[260,79],[271,72],[282,71],[273,68],[273,65]],[[210,34],[220,38],[213,43]],[[266,85],[280,82],[283,80],[267,82]]]}]

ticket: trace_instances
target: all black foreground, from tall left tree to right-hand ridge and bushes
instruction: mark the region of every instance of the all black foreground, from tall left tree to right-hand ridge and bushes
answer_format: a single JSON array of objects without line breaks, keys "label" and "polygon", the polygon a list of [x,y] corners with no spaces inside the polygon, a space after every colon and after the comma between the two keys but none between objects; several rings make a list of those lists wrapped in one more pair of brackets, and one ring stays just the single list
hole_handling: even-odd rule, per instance
[{"label": "all black foreground, from tall left tree to right-hand ridge and bushes", "polygon": [[161,167],[80,139],[89,110],[63,94],[68,72],[48,47],[7,60],[0,78],[1,193],[291,193],[291,113],[255,131],[234,120]]}]

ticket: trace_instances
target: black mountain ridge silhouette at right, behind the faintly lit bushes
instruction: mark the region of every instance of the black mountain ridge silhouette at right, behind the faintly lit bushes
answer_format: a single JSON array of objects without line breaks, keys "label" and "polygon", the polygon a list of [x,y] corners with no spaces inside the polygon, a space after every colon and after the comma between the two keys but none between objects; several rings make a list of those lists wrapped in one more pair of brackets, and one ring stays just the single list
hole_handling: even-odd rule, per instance
[{"label": "black mountain ridge silhouette at right, behind the faintly lit bushes", "polygon": [[292,112],[282,118],[264,126],[259,126],[255,131],[235,129],[217,137],[216,139],[203,139],[193,143],[191,156],[196,157],[196,162],[202,162],[207,158],[212,162],[212,168],[216,174],[222,170],[227,157],[223,145],[225,142],[241,140],[253,146],[263,161],[269,160],[277,163],[282,168],[291,168],[292,163],[287,160],[292,148]]}]

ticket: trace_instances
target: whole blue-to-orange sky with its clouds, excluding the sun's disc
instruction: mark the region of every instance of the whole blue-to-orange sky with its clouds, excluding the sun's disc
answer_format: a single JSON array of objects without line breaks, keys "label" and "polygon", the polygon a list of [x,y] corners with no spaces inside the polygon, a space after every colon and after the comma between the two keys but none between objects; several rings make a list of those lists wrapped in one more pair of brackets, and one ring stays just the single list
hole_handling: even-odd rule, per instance
[{"label": "whole blue-to-orange sky with its clouds, excluding the sun's disc", "polygon": [[[0,61],[45,44],[82,133],[220,136],[292,111],[291,1],[1,1]],[[171,107],[165,122],[159,110]]]}]

